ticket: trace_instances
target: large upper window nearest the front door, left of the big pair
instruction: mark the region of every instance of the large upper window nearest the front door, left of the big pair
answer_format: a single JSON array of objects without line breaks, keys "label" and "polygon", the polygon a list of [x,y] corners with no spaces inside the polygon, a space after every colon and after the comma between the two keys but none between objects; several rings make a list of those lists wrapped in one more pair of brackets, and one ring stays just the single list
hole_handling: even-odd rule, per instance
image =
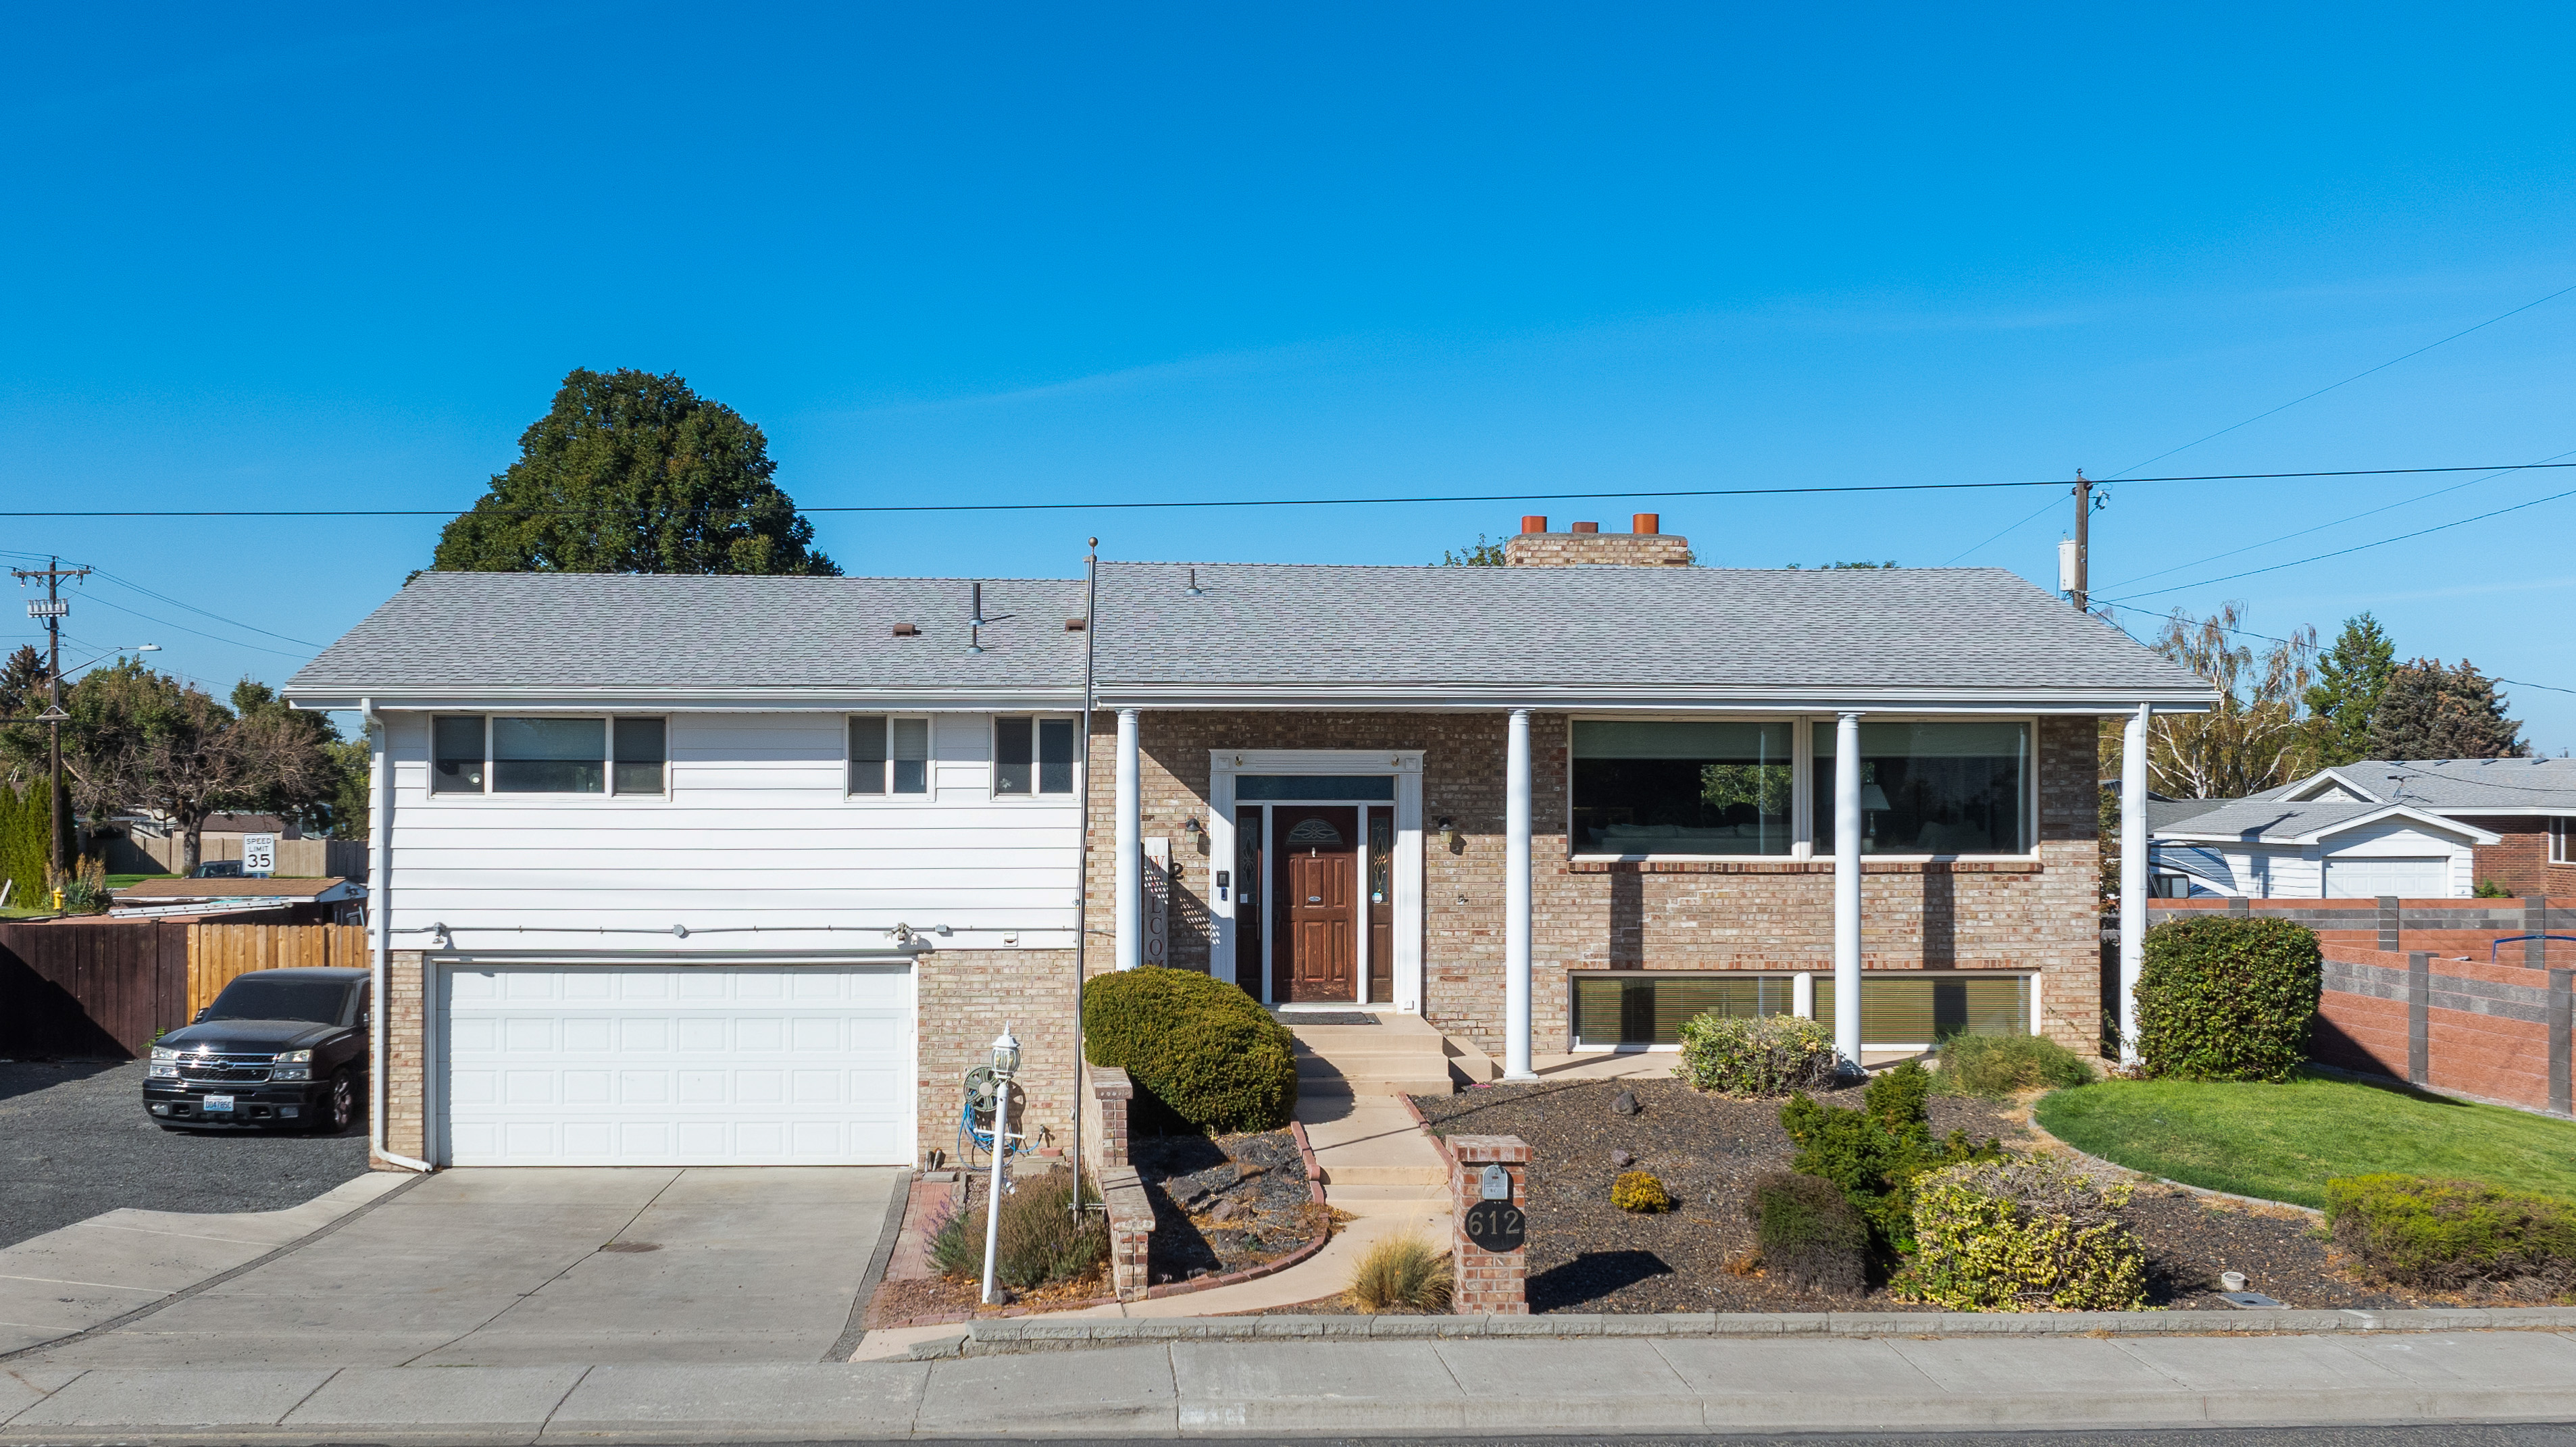
[{"label": "large upper window nearest the front door, left of the big pair", "polygon": [[1574,724],[1574,850],[1788,855],[1793,724]]}]

